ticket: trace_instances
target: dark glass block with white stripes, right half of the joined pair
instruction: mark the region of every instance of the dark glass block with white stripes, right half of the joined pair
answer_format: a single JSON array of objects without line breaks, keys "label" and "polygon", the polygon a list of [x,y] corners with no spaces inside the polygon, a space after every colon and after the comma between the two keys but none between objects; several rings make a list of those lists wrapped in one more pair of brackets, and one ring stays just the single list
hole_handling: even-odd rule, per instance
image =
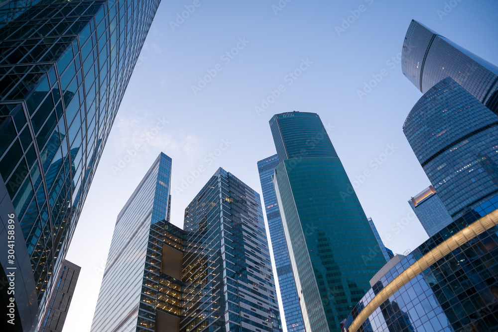
[{"label": "dark glass block with white stripes, right half of the joined pair", "polygon": [[185,209],[182,332],[281,331],[259,194],[219,168]]}]

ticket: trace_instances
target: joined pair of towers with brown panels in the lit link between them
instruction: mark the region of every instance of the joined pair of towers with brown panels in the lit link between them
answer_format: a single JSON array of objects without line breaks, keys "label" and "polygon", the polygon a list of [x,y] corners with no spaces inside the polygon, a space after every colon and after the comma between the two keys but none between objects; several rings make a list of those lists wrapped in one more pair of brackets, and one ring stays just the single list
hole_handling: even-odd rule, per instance
[{"label": "joined pair of towers with brown panels in the lit link between them", "polygon": [[281,331],[259,195],[219,168],[182,230],[170,175],[161,153],[119,214],[91,331]]}]

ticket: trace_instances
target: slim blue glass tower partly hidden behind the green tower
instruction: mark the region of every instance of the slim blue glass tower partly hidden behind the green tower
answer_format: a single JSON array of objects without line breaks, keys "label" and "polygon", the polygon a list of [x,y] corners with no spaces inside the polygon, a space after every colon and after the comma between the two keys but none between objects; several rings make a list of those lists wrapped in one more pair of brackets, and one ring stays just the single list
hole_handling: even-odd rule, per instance
[{"label": "slim blue glass tower partly hidden behind the green tower", "polygon": [[259,181],[263,191],[263,200],[268,220],[268,231],[271,238],[271,248],[275,258],[275,267],[282,306],[285,315],[285,324],[288,332],[303,332],[304,321],[299,305],[296,283],[292,274],[289,250],[283,233],[282,220],[278,212],[275,189],[273,188],[273,170],[278,165],[278,156],[273,155],[257,162]]}]

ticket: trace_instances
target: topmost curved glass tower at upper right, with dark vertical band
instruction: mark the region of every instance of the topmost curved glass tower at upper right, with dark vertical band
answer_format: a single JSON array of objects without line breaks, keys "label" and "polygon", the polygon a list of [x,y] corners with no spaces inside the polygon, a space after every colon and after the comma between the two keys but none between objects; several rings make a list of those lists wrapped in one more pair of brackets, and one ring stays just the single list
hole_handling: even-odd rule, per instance
[{"label": "topmost curved glass tower at upper right, with dark vertical band", "polygon": [[450,77],[498,114],[498,67],[412,20],[401,70],[422,93]]}]

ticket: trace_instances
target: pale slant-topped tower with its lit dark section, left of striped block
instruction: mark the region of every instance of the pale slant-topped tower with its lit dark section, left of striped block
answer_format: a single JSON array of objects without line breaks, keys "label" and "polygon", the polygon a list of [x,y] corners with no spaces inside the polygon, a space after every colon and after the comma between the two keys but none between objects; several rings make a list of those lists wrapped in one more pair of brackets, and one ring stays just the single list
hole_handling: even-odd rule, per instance
[{"label": "pale slant-topped tower with its lit dark section, left of striped block", "polygon": [[181,266],[171,276],[161,264],[163,250],[182,251],[182,230],[169,223],[170,176],[171,158],[161,153],[118,215],[92,332],[153,330],[156,308],[161,321],[179,320]]}]

